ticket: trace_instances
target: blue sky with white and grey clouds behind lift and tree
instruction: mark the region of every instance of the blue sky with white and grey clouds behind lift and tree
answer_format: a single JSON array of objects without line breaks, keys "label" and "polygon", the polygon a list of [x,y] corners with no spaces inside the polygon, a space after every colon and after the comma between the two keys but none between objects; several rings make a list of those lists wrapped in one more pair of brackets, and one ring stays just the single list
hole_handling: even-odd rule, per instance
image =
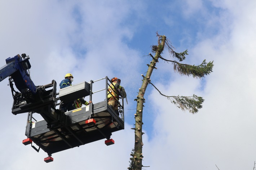
[{"label": "blue sky with white and grey clouds behind lift and tree", "polygon": [[[30,56],[36,85],[73,84],[118,77],[127,92],[125,129],[104,140],[54,153],[24,146],[27,114],[12,114],[8,78],[0,82],[0,167],[4,170],[129,167],[141,74],[152,45],[165,35],[185,64],[213,61],[203,79],[184,77],[159,61],[151,82],[165,95],[204,98],[197,114],[182,111],[152,86],[145,93],[142,164],[146,170],[253,169],[256,161],[255,0],[1,0],[0,67],[17,54]],[[173,60],[165,49],[162,56]],[[98,99],[97,99],[98,100]]]}]

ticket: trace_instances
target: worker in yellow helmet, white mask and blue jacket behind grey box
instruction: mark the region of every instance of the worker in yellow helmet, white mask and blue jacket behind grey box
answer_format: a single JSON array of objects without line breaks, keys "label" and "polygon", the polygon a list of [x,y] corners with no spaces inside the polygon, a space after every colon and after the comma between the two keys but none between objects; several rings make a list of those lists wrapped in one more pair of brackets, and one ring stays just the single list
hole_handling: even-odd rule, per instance
[{"label": "worker in yellow helmet, white mask and blue jacket behind grey box", "polygon": [[[65,79],[61,81],[61,83],[59,83],[59,88],[65,88],[65,87],[69,87],[72,86],[72,81],[74,80],[74,77],[72,74],[67,73],[65,75]],[[74,101],[70,101],[70,102],[61,102],[60,106],[59,106],[59,110],[62,110],[64,112],[66,111],[70,111],[70,110],[74,110],[75,108],[75,104]]]}]

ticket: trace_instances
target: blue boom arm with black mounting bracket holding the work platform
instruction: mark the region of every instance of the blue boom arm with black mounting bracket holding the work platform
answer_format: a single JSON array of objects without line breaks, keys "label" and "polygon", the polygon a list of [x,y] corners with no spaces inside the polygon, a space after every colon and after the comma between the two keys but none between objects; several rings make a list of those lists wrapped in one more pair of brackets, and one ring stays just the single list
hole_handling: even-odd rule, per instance
[{"label": "blue boom arm with black mounting bracket holding the work platform", "polygon": [[[37,112],[49,126],[59,122],[61,111],[56,109],[56,81],[44,86],[35,86],[30,78],[30,58],[26,54],[18,54],[6,59],[6,65],[0,68],[0,82],[9,77],[10,88],[13,95],[12,113],[14,115],[25,112]],[[18,89],[14,90],[13,82]],[[48,89],[52,87],[52,89]],[[48,90],[47,90],[48,89]]]}]

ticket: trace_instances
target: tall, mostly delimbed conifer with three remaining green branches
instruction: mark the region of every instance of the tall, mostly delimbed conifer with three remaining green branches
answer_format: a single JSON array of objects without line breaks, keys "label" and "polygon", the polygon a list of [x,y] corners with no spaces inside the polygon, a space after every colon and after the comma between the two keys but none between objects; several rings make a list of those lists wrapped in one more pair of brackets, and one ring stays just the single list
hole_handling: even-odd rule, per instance
[{"label": "tall, mostly delimbed conifer with three remaining green branches", "polygon": [[212,72],[213,68],[213,61],[206,63],[206,60],[203,60],[202,64],[195,66],[195,65],[189,65],[189,64],[182,64],[178,63],[175,60],[167,60],[161,56],[164,47],[168,48],[169,54],[171,57],[177,58],[179,61],[185,60],[185,56],[187,54],[187,50],[181,53],[175,52],[173,49],[174,47],[171,45],[171,43],[167,40],[166,36],[158,35],[158,45],[151,46],[152,52],[155,53],[155,56],[153,56],[151,53],[149,53],[149,56],[152,57],[152,61],[150,61],[150,64],[148,65],[148,70],[146,75],[142,75],[143,82],[142,86],[139,89],[138,96],[134,100],[137,101],[137,111],[135,115],[135,142],[134,142],[134,149],[131,153],[130,158],[130,166],[128,167],[129,170],[141,170],[142,165],[142,112],[143,112],[143,103],[145,102],[145,91],[148,84],[151,84],[162,96],[167,97],[168,100],[170,100],[173,104],[175,104],[177,107],[182,109],[183,111],[188,110],[192,114],[195,114],[198,112],[198,109],[202,108],[202,103],[204,99],[202,97],[198,97],[197,95],[193,96],[166,96],[162,94],[158,88],[154,86],[153,83],[151,83],[150,77],[154,69],[156,69],[156,63],[159,59],[162,59],[167,62],[173,63],[173,69],[175,72],[180,73],[181,75],[187,75],[187,76],[193,76],[194,78],[203,78],[205,75],[208,75]]}]

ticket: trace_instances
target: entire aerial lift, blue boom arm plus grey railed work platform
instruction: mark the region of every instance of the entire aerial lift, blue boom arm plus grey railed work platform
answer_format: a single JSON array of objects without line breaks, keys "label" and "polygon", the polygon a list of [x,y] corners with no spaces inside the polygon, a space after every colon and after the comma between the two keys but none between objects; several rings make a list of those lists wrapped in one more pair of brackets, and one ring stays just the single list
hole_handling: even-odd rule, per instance
[{"label": "entire aerial lift, blue boom arm plus grey railed work platform", "polygon": [[[26,113],[26,139],[23,144],[31,146],[39,152],[48,154],[45,162],[53,161],[53,153],[106,139],[108,146],[114,144],[112,132],[124,129],[124,97],[120,93],[118,102],[119,113],[107,104],[107,94],[110,91],[110,79],[81,82],[74,86],[56,91],[57,83],[52,81],[44,86],[35,86],[29,74],[30,63],[26,54],[6,59],[6,65],[0,69],[0,81],[9,76],[9,84],[13,94],[12,113]],[[13,82],[19,91],[15,91]],[[94,84],[97,84],[93,92]],[[99,88],[99,89],[97,89]],[[88,106],[63,112],[58,109],[60,102],[74,101],[89,96],[93,101]],[[95,98],[94,98],[95,97]],[[43,120],[35,120],[34,115],[40,115]],[[33,144],[34,143],[34,144]],[[35,146],[37,145],[37,147]]]}]

